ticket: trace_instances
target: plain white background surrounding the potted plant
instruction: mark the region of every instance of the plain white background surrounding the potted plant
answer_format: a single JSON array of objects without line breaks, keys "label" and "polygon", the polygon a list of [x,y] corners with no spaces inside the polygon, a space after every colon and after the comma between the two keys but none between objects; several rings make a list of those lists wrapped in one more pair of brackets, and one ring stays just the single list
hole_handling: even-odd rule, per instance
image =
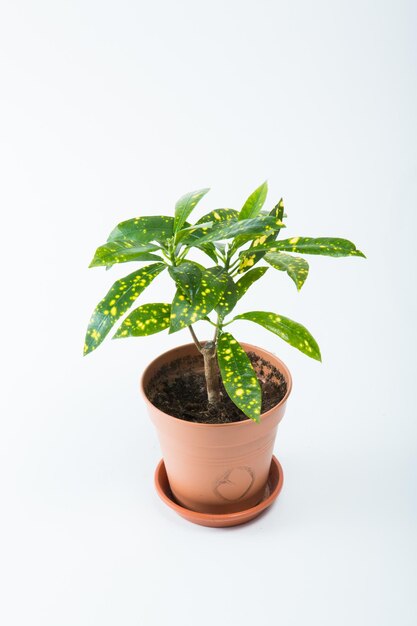
[{"label": "plain white background surrounding the potted plant", "polygon": [[[4,626],[414,625],[416,5],[3,0],[0,9],[0,621]],[[304,323],[258,521],[193,526],[158,500],[138,377],[173,336],[81,356],[122,219],[240,208],[265,178],[288,235],[342,236],[300,294],[239,304]],[[166,300],[167,278],[142,302]],[[204,337],[205,326],[197,326]]]}]

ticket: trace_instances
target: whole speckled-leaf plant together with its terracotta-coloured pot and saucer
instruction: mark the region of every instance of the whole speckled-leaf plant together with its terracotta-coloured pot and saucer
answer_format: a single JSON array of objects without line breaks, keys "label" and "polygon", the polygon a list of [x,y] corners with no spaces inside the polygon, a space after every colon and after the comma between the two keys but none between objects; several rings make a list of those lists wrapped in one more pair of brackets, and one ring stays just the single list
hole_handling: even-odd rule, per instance
[{"label": "whole speckled-leaf plant together with its terracotta-coloured pot and saucer", "polygon": [[[281,199],[272,210],[264,210],[266,182],[240,211],[215,209],[190,224],[191,212],[208,191],[181,197],[173,216],[137,217],[118,224],[96,250],[90,267],[141,265],[117,280],[97,305],[84,354],[102,343],[161,272],[169,273],[172,301],[135,308],[113,338],[185,328],[191,333],[192,343],[160,355],[142,376],[142,393],[163,452],[157,487],[167,503],[192,521],[232,525],[257,515],[282,485],[282,468],[272,453],[291,375],[270,352],[240,344],[230,325],[239,320],[260,324],[321,360],[317,342],[301,324],[259,310],[233,316],[233,309],[269,268],[286,272],[300,290],[309,266],[298,253],[364,255],[346,239],[278,239],[285,228],[284,204]],[[206,263],[195,260],[196,250]],[[199,321],[212,327],[211,339],[197,338],[194,325]],[[266,497],[271,472],[275,482]]]}]

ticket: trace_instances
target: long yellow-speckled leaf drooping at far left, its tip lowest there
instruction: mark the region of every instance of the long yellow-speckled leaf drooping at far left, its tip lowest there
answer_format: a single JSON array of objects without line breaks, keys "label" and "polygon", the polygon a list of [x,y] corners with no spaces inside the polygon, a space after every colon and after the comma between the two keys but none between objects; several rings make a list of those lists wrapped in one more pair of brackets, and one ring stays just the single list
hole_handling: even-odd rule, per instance
[{"label": "long yellow-speckled leaf drooping at far left, its tip lowest there", "polygon": [[130,309],[134,300],[165,267],[163,263],[153,263],[116,280],[91,316],[85,338],[84,354],[92,352],[101,344],[117,320]]}]

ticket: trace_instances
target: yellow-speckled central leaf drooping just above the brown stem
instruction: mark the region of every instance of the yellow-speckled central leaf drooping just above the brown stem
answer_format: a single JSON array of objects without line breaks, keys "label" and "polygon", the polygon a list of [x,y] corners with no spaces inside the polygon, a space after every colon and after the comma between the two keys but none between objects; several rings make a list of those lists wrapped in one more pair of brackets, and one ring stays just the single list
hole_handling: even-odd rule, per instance
[{"label": "yellow-speckled central leaf drooping just above the brown stem", "polygon": [[223,268],[210,268],[201,271],[200,285],[192,297],[178,289],[171,305],[169,332],[175,333],[210,313],[224,291],[226,280],[227,273]]}]

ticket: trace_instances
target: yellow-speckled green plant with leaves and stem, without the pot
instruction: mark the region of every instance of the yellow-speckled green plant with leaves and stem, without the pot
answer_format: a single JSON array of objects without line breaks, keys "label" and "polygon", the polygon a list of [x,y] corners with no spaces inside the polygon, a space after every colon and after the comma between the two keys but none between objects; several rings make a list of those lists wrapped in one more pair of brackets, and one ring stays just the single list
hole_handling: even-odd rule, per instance
[{"label": "yellow-speckled green plant with leaves and stem, without the pot", "polygon": [[[249,320],[318,361],[320,349],[304,326],[278,313],[248,311],[230,317],[237,302],[269,268],[286,272],[300,290],[309,266],[294,253],[364,256],[347,239],[278,239],[285,228],[284,204],[281,199],[270,211],[265,211],[267,190],[265,182],[249,196],[240,211],[215,209],[194,224],[187,220],[209,189],[182,196],[173,217],[136,217],[118,224],[107,242],[96,250],[90,267],[109,269],[115,263],[131,261],[147,264],[117,280],[99,302],[88,325],[84,354],[101,344],[146,287],[166,270],[174,283],[172,302],[152,302],[135,308],[113,338],[144,337],[166,329],[175,333],[188,328],[204,358],[208,401],[221,400],[220,371],[224,388],[234,404],[250,419],[259,421],[261,386],[246,352],[226,328],[238,320]],[[206,265],[189,258],[195,248],[210,259]],[[211,341],[201,342],[197,338],[193,324],[199,320],[214,327]]]}]

